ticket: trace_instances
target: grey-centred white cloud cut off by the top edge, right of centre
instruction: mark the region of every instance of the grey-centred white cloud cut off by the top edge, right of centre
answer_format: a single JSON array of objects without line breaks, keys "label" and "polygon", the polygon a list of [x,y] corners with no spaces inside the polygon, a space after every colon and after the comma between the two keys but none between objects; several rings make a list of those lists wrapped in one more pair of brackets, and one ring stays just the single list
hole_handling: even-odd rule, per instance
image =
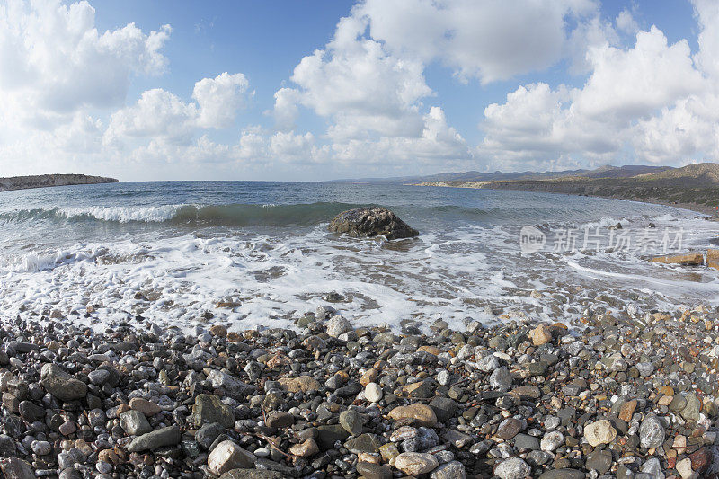
[{"label": "grey-centred white cloud cut off by the top edge, right of centre", "polygon": [[567,43],[566,17],[597,11],[590,0],[367,0],[353,17],[367,18],[372,38],[395,55],[437,59],[488,83],[554,65]]}]

